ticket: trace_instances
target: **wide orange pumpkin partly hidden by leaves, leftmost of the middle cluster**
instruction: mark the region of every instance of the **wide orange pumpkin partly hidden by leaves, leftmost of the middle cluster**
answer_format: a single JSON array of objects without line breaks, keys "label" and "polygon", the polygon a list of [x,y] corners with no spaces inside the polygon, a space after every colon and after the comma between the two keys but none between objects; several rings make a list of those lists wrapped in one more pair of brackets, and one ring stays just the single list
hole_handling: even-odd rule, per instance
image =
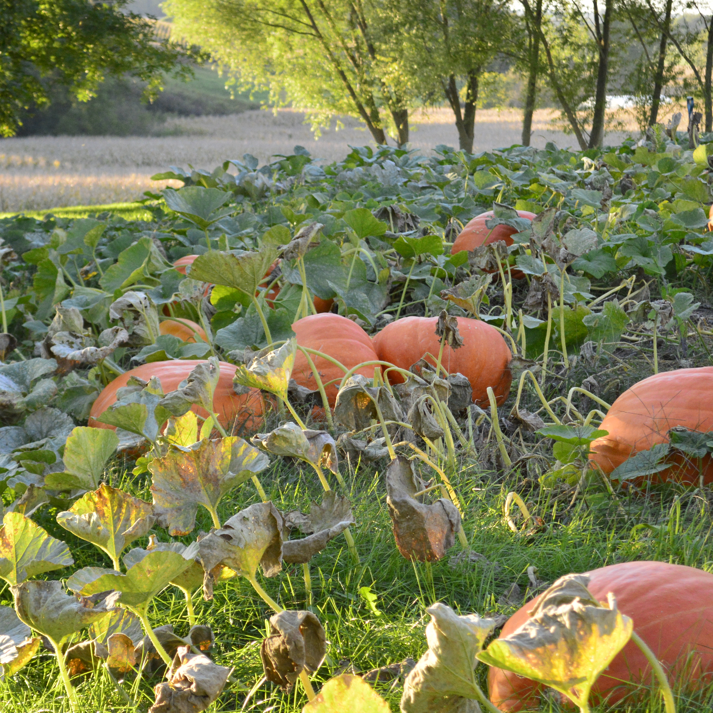
[{"label": "wide orange pumpkin partly hidden by leaves, leftmost of the middle cluster", "polygon": [[[126,386],[130,376],[138,376],[139,379],[145,381],[148,381],[152,376],[158,376],[163,392],[168,394],[169,391],[178,389],[178,384],[195,369],[195,366],[204,363],[203,359],[153,361],[150,364],[141,364],[135,369],[126,371],[105,386],[94,401],[89,415],[89,425],[98,429],[113,428],[113,426],[102,424],[96,419],[116,402],[116,391],[122,386]],[[213,395],[213,408],[222,426],[227,427],[232,421],[235,421],[236,434],[240,434],[241,431],[255,433],[262,425],[265,402],[260,394],[260,389],[250,389],[247,394],[236,394],[233,391],[232,377],[235,375],[235,369],[237,369],[235,364],[228,364],[227,361],[220,362],[220,379]],[[200,406],[194,405],[192,410],[203,418],[208,415],[207,411]]]}]

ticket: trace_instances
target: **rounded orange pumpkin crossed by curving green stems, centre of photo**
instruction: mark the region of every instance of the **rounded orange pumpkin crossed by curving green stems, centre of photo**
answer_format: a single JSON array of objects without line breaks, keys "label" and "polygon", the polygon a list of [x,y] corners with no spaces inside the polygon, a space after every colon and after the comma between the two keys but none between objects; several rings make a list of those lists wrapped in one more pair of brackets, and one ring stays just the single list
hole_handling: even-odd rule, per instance
[{"label": "rounded orange pumpkin crossed by curving green stems, centre of photo", "polygon": [[[358,324],[351,319],[340,317],[339,314],[324,312],[324,314],[310,314],[309,317],[302,317],[292,324],[294,334],[297,335],[297,344],[300,347],[309,347],[318,352],[324,352],[337,359],[341,364],[351,369],[362,361],[376,361],[379,357],[374,352],[369,334],[364,332]],[[344,371],[335,366],[331,361],[322,356],[311,354],[314,361],[314,368],[317,369],[319,379],[325,384],[329,404],[334,406],[339,390],[339,381],[342,381]],[[374,377],[374,366],[363,366],[356,371],[368,379]],[[294,369],[292,378],[297,384],[307,386],[308,389],[317,389],[317,380],[314,379],[312,369],[307,364],[304,354],[297,350],[294,358]],[[332,384],[327,386],[327,381]]]}]

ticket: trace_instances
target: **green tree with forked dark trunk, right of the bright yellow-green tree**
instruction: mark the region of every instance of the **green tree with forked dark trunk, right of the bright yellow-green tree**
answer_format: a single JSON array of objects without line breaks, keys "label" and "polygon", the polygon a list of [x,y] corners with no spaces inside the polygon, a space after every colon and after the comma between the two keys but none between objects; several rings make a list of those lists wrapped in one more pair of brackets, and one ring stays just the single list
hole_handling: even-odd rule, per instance
[{"label": "green tree with forked dark trunk, right of the bright yellow-green tree", "polygon": [[385,8],[399,32],[404,77],[426,104],[448,102],[458,144],[471,152],[481,74],[498,56],[513,24],[507,3],[387,0]]}]

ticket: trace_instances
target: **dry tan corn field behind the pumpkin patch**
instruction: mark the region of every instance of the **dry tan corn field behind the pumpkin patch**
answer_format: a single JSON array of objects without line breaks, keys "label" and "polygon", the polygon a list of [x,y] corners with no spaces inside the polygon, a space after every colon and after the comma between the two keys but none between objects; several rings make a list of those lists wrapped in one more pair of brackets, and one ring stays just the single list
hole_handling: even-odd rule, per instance
[{"label": "dry tan corn field behind the pumpkin patch", "polygon": [[[573,136],[551,129],[555,112],[535,112],[533,145],[546,141],[575,145]],[[476,118],[474,152],[520,141],[522,113],[483,110]],[[70,205],[100,205],[137,200],[145,190],[160,190],[170,181],[150,177],[168,166],[188,164],[212,170],[227,158],[252,153],[267,161],[276,153],[292,153],[296,144],[326,162],[344,158],[347,144],[371,143],[356,120],[342,119],[343,128],[324,131],[318,140],[304,123],[304,114],[289,109],[277,115],[247,111],[232,116],[200,116],[169,120],[161,137],[35,136],[0,140],[0,212],[45,210]],[[627,128],[638,131],[633,122]],[[607,136],[620,141],[625,134]],[[448,109],[416,113],[411,118],[411,145],[424,153],[439,143],[458,145]],[[177,185],[181,185],[178,183]]]}]

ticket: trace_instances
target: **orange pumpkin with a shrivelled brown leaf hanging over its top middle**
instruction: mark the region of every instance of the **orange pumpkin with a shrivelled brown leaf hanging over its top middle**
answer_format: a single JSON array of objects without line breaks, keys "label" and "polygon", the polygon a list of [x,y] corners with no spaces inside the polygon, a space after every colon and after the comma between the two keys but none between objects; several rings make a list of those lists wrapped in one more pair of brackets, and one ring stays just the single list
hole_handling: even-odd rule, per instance
[{"label": "orange pumpkin with a shrivelled brown leaf hanging over its top middle", "polygon": [[[374,349],[379,359],[409,369],[421,357],[432,354],[438,357],[441,339],[436,337],[438,317],[402,317],[387,324],[374,337]],[[513,376],[508,364],[512,354],[497,329],[480,319],[458,317],[458,330],[463,337],[463,346],[451,349],[446,344],[441,363],[448,373],[459,371],[473,387],[473,401],[478,405],[488,404],[488,386],[493,387],[498,404],[510,393]],[[436,364],[436,359],[428,360]],[[389,371],[389,381],[400,384],[404,377]]]}]

